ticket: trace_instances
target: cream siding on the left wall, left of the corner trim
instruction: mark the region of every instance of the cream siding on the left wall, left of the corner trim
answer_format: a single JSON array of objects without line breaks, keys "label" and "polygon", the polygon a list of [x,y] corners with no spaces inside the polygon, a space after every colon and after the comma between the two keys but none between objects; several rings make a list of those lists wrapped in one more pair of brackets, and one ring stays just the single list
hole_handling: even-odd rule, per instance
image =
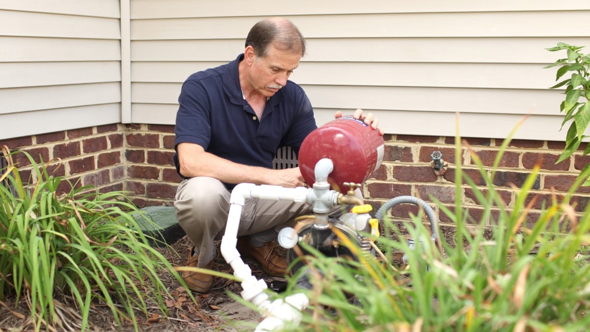
[{"label": "cream siding on the left wall, left of the corner trim", "polygon": [[117,0],[0,1],[0,139],[120,122]]}]

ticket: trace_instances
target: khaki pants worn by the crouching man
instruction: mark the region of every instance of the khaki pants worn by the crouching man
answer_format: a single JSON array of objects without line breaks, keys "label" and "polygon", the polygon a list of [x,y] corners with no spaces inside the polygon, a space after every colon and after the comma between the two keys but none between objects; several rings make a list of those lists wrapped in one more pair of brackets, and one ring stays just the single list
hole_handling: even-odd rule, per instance
[{"label": "khaki pants worn by the crouching man", "polygon": [[[199,267],[212,261],[214,240],[221,240],[225,233],[230,196],[225,185],[211,177],[183,180],[176,190],[176,219],[199,249]],[[356,196],[360,197],[359,190]],[[336,207],[330,216],[340,216],[344,209],[349,207]],[[292,226],[296,217],[312,213],[312,206],[309,204],[250,198],[245,201],[242,209],[238,236],[254,235],[273,227],[280,230],[285,226]]]}]

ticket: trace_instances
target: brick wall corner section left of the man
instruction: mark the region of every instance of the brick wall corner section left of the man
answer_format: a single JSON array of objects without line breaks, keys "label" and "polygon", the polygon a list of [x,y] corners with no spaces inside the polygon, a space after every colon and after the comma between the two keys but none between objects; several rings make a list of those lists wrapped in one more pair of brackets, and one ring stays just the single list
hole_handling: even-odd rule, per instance
[{"label": "brick wall corner section left of the man", "polygon": [[[11,151],[26,151],[35,162],[60,158],[48,168],[75,187],[125,190],[138,207],[171,205],[182,180],[173,167],[174,126],[106,125],[0,140]],[[24,154],[14,161],[24,178],[33,178]],[[62,181],[61,190],[71,187]]]}]

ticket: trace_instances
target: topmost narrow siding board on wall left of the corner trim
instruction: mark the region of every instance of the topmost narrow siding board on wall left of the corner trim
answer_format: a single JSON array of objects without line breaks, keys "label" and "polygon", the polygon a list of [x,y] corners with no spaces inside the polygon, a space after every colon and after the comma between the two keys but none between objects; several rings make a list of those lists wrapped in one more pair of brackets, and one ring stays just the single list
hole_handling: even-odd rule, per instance
[{"label": "topmost narrow siding board on wall left of the corner trim", "polygon": [[0,9],[119,18],[119,0],[0,0]]}]

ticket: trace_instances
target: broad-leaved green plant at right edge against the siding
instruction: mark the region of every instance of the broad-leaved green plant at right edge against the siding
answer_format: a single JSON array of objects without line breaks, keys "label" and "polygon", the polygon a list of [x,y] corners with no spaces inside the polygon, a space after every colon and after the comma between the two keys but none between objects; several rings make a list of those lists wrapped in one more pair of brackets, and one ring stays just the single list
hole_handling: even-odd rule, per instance
[{"label": "broad-leaved green plant at right edge against the siding", "polygon": [[[546,48],[548,51],[567,51],[568,57],[560,58],[545,68],[560,66],[557,70],[555,80],[558,81],[566,74],[568,79],[550,87],[556,89],[565,86],[565,99],[559,106],[559,111],[565,113],[562,128],[565,123],[572,121],[566,135],[566,147],[557,162],[570,157],[582,144],[582,140],[588,136],[584,135],[590,122],[590,54],[580,53],[584,47],[558,43],[556,47]],[[584,101],[585,100],[585,101]],[[590,153],[590,145],[586,144],[584,155]]]}]

